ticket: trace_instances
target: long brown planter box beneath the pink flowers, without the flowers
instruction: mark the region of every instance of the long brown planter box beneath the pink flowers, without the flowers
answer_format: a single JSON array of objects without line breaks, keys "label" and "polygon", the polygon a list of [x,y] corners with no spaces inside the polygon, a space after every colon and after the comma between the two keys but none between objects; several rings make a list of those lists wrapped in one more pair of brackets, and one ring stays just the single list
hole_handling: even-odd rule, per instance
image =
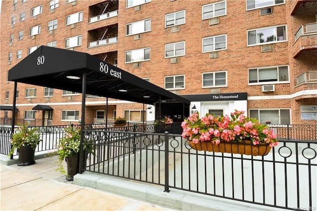
[{"label": "long brown planter box beneath the pink flowers, without the flowers", "polygon": [[209,141],[198,142],[195,144],[191,140],[187,140],[187,143],[195,150],[215,153],[266,156],[271,150],[271,147],[269,147],[268,144],[253,145],[252,142],[248,140],[238,143],[220,142],[218,145],[212,144]]}]

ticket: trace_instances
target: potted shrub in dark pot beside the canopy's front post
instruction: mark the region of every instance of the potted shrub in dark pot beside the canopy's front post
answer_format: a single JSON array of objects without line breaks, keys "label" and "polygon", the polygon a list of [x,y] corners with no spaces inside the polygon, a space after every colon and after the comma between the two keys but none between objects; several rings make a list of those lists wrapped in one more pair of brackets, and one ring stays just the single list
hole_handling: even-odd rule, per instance
[{"label": "potted shrub in dark pot beside the canopy's front post", "polygon": [[[80,153],[80,132],[81,129],[74,126],[66,126],[64,136],[59,139],[57,151],[51,154],[51,157],[57,155],[58,166],[56,170],[60,173],[66,173],[63,167],[63,160],[67,164],[66,180],[72,181],[74,175],[79,171],[79,153]],[[92,141],[89,141],[90,143]],[[86,164],[88,155],[93,154],[92,145],[84,145],[83,164]]]}]

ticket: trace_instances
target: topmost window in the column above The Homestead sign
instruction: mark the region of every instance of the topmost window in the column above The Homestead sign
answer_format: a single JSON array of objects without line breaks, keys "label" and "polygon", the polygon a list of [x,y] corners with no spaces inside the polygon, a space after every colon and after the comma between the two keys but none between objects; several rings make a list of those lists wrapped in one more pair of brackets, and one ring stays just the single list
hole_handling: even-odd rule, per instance
[{"label": "topmost window in the column above The Homestead sign", "polygon": [[203,20],[226,15],[226,1],[203,5]]}]

